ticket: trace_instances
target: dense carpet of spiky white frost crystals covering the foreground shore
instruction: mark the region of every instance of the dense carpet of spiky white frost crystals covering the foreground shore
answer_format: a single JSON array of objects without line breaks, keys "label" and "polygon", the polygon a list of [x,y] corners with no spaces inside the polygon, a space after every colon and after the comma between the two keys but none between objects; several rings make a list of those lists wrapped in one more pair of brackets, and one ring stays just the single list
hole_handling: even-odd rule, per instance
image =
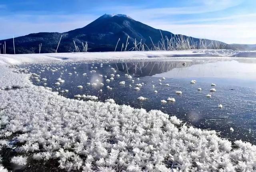
[{"label": "dense carpet of spiky white frost crystals covering the foreground shore", "polygon": [[[255,145],[231,143],[161,111],[67,99],[32,85],[28,74],[15,70],[0,66],[0,88],[5,88],[0,89],[0,145],[15,148],[24,158],[56,159],[67,171],[256,168]],[[19,89],[8,89],[14,85]]]}]

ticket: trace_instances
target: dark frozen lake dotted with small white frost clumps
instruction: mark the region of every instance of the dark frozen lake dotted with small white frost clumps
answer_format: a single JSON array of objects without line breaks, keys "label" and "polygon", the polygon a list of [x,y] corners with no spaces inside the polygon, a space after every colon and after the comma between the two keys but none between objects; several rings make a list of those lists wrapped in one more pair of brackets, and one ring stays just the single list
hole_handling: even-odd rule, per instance
[{"label": "dark frozen lake dotted with small white frost clumps", "polygon": [[[186,63],[184,61],[102,64],[70,62],[21,65],[21,67],[26,67],[31,73],[40,75],[38,78],[31,78],[35,85],[51,87],[53,91],[58,91],[64,97],[74,99],[74,95],[78,94],[94,95],[98,97],[98,101],[114,99],[119,105],[130,105],[148,111],[157,109],[169,115],[176,115],[184,123],[195,127],[216,130],[229,140],[241,139],[256,144],[256,60],[254,59],[191,60]],[[132,78],[129,79],[125,74],[131,75]],[[111,77],[114,79],[111,80]],[[165,79],[162,79],[163,77]],[[43,81],[43,78],[47,80]],[[58,78],[64,80],[64,83],[55,85]],[[192,79],[196,80],[196,83],[191,84]],[[125,84],[121,85],[121,81],[125,81]],[[211,86],[211,83],[215,83],[216,86]],[[82,88],[78,88],[79,85],[82,85]],[[140,90],[134,90],[135,87]],[[202,90],[198,91],[198,88]],[[212,88],[216,91],[210,92]],[[64,92],[66,89],[68,92]],[[182,94],[178,95],[176,91],[182,91]],[[207,94],[211,97],[206,97]],[[137,100],[140,96],[147,99]],[[168,102],[168,97],[175,98],[176,102]],[[161,103],[163,99],[167,103]],[[223,105],[222,109],[218,107],[219,104]],[[231,127],[234,131],[230,130]]]}]

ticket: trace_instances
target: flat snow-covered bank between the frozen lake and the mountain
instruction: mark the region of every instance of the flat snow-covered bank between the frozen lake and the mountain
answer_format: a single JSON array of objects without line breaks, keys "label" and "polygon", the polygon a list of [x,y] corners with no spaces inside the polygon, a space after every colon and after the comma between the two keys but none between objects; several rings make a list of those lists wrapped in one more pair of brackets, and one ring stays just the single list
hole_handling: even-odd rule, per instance
[{"label": "flat snow-covered bank between the frozen lake and the mountain", "polygon": [[[241,51],[242,52],[242,51]],[[94,53],[46,53],[46,54],[0,54],[0,64],[21,64],[62,60],[144,60],[170,59],[170,57],[230,57],[237,54],[233,50],[188,50],[188,51],[121,51],[121,52],[94,52]],[[241,57],[241,56],[240,56]]]}]

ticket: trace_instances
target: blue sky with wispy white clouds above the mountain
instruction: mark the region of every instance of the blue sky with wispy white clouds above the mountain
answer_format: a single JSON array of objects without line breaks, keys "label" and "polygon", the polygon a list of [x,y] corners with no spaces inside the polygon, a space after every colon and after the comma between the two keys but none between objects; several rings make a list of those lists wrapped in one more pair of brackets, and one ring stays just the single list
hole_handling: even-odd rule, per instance
[{"label": "blue sky with wispy white clouds above the mountain", "polygon": [[1,0],[0,39],[66,32],[105,13],[175,34],[256,44],[256,0]]}]

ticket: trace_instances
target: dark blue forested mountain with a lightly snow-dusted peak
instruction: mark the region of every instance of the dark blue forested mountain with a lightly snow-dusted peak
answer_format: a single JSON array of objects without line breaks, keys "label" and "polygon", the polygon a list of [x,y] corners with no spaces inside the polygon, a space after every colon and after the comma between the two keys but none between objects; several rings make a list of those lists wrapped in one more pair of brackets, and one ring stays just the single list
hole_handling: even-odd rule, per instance
[{"label": "dark blue forested mountain with a lightly snow-dusted peak", "polygon": [[[104,14],[87,26],[69,32],[41,32],[14,38],[15,51],[16,53],[38,53],[39,44],[42,43],[41,53],[53,53],[56,51],[61,36],[58,52],[76,52],[78,49],[82,51],[84,49],[82,43],[85,44],[86,42],[88,42],[88,51],[114,51],[115,48],[116,51],[121,51],[126,47],[128,36],[126,50],[131,50],[134,47],[135,39],[137,44],[141,41],[140,45],[144,44],[145,49],[156,49],[155,46],[160,47],[160,49],[167,48],[168,43],[165,38],[168,40],[172,38],[169,44],[175,49],[186,49],[184,44],[194,45],[194,48],[202,48],[205,45],[208,45],[207,48],[216,48],[216,45],[226,49],[255,48],[242,44],[229,45],[218,41],[175,35],[168,31],[152,28],[124,14]],[[164,40],[164,45],[162,45],[161,39]],[[75,47],[73,41],[78,48]],[[6,42],[6,53],[14,53],[13,39],[0,40],[0,44],[4,44],[4,42]],[[122,44],[124,44],[123,48]],[[0,45],[0,49],[3,52],[2,45]]]}]

